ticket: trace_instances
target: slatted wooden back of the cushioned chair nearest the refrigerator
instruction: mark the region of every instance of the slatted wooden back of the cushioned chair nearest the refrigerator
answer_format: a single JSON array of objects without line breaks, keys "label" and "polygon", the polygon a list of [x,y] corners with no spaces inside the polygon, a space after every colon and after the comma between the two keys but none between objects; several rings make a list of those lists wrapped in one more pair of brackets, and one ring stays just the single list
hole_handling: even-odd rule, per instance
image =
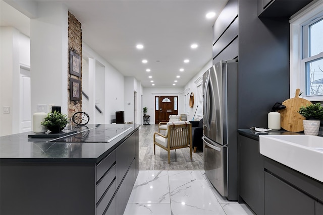
[{"label": "slatted wooden back of the cushioned chair nearest the refrigerator", "polygon": [[192,124],[189,121],[168,122],[167,128],[167,141],[170,150],[192,145]]}]

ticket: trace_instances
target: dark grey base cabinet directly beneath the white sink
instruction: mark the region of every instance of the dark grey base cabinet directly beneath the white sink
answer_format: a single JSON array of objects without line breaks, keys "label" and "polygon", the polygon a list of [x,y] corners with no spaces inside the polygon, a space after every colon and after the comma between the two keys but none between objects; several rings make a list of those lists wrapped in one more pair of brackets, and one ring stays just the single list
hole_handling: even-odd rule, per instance
[{"label": "dark grey base cabinet directly beneath the white sink", "polygon": [[265,214],[323,214],[323,183],[264,158]]}]

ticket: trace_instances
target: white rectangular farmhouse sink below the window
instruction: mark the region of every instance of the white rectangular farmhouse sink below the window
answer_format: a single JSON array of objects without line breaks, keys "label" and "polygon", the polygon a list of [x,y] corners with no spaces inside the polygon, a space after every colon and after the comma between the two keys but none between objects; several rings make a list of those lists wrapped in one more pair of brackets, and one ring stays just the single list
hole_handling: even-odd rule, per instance
[{"label": "white rectangular farmhouse sink below the window", "polygon": [[323,137],[259,135],[260,154],[323,182]]}]

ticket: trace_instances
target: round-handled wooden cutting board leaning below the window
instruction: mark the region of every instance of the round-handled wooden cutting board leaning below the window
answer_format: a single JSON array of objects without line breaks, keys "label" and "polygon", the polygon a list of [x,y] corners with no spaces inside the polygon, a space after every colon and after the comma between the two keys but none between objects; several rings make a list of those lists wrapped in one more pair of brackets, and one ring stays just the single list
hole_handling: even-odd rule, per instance
[{"label": "round-handled wooden cutting board leaning below the window", "polygon": [[283,102],[285,109],[279,110],[281,114],[281,127],[287,131],[299,132],[303,131],[303,120],[305,117],[301,116],[297,111],[301,106],[312,104],[310,101],[299,98],[300,89],[296,89],[295,98],[287,99]]}]

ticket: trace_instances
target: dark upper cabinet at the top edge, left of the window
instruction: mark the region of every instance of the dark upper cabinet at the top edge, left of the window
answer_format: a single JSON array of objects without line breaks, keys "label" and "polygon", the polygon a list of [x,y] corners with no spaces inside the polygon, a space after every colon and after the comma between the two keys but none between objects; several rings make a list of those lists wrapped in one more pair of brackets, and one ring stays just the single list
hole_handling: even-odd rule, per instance
[{"label": "dark upper cabinet at the top edge, left of the window", "polygon": [[258,0],[259,17],[291,17],[312,0]]}]

